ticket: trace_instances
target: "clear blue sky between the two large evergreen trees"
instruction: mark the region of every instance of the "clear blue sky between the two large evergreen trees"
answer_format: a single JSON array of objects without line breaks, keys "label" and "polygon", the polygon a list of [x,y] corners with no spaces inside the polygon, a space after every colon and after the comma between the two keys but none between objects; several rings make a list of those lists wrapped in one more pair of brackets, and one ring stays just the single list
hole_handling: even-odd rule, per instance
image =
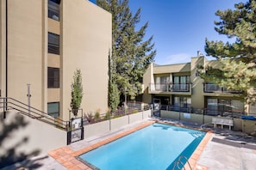
[{"label": "clear blue sky between the two large evergreen trees", "polygon": [[129,0],[129,7],[133,14],[141,8],[141,25],[148,21],[146,38],[153,35],[155,63],[179,64],[190,62],[197,51],[205,55],[205,38],[229,40],[215,32],[214,21],[219,21],[215,12],[234,9],[240,2],[247,0]]}]

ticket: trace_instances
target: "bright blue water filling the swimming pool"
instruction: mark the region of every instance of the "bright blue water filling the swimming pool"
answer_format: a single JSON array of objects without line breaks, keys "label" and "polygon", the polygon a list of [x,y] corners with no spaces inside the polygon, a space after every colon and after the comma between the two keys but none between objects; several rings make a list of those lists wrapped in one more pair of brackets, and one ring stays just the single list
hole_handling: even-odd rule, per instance
[{"label": "bright blue water filling the swimming pool", "polygon": [[190,155],[205,132],[152,124],[79,157],[102,170],[172,169],[180,155]]}]

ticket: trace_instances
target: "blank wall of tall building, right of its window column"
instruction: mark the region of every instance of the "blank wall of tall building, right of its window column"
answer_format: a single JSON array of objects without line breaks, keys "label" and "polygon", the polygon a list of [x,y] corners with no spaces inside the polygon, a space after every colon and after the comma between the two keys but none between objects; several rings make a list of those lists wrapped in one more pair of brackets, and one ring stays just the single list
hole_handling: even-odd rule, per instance
[{"label": "blank wall of tall building, right of its window column", "polygon": [[[111,15],[95,4],[63,1],[61,16],[62,112],[70,108],[74,71],[83,76],[84,112],[106,112],[108,108],[108,56],[111,49]],[[66,119],[67,115],[64,116]]]}]

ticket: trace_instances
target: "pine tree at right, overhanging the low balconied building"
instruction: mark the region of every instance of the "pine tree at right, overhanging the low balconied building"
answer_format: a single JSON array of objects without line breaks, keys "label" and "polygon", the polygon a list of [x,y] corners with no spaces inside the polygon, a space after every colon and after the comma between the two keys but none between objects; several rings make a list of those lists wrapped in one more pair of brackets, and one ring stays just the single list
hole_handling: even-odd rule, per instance
[{"label": "pine tree at right, overhanging the low balconied building", "polygon": [[[235,9],[218,10],[215,15],[221,21],[215,21],[215,31],[235,38],[234,43],[209,41],[206,39],[205,52],[216,58],[218,68],[208,66],[199,68],[206,82],[214,82],[220,87],[241,90],[242,99],[255,103],[256,82],[256,3],[234,4]],[[207,70],[205,73],[203,70]]]}]

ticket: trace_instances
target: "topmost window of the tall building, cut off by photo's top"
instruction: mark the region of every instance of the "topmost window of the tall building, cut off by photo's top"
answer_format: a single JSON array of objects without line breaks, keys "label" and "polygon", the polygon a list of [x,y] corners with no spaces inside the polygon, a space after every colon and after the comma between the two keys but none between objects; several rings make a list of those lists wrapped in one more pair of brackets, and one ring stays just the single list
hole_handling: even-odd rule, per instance
[{"label": "topmost window of the tall building, cut off by photo's top", "polygon": [[48,0],[48,18],[59,21],[60,0]]}]

